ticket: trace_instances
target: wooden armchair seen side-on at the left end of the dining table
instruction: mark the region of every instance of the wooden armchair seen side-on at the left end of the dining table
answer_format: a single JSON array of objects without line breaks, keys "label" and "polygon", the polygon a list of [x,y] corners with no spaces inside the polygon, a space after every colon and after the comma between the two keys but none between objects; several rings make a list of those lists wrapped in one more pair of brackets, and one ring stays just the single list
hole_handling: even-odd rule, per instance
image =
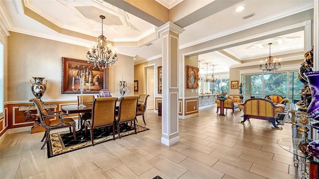
[{"label": "wooden armchair seen side-on at the left end of the dining table", "polygon": [[[61,128],[68,127],[70,129],[70,133],[72,133],[72,130],[71,130],[71,127],[72,127],[73,137],[74,137],[74,140],[76,140],[75,121],[72,118],[63,118],[63,116],[66,114],[63,113],[62,111],[53,111],[53,112],[46,111],[43,108],[41,101],[37,98],[32,98],[29,101],[33,102],[34,105],[36,106],[38,114],[39,114],[40,122],[42,126],[45,128],[45,133],[41,142],[44,140],[44,138],[45,138],[45,141],[41,149],[43,149],[45,144],[48,142],[50,138],[50,131],[54,129],[61,129]],[[58,119],[54,119],[55,117],[58,117]]]}]

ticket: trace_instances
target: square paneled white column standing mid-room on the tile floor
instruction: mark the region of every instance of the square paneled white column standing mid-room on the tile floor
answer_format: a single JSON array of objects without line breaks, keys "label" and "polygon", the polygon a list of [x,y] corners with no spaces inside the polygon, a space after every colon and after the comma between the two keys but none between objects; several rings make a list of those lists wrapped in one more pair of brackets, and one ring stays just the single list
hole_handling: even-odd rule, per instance
[{"label": "square paneled white column standing mid-room on the tile floor", "polygon": [[183,28],[166,22],[158,29],[162,40],[162,136],[161,143],[171,146],[178,135],[178,35]]}]

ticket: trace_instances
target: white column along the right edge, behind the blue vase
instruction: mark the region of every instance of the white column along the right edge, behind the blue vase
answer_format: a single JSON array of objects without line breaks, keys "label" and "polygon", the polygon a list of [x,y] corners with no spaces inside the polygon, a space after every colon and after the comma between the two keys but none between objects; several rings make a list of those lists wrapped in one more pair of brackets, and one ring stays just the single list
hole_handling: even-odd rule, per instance
[{"label": "white column along the right edge, behind the blue vase", "polygon": [[[319,71],[319,2],[314,0],[314,71]],[[318,130],[314,129],[314,140],[319,140]]]}]

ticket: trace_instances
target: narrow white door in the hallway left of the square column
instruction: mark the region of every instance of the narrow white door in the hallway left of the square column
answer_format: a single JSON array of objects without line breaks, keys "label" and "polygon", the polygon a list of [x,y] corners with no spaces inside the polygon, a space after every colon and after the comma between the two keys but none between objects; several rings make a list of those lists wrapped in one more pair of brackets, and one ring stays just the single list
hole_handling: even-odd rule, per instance
[{"label": "narrow white door in the hallway left of the square column", "polygon": [[147,69],[146,91],[149,94],[147,109],[154,109],[154,70]]}]

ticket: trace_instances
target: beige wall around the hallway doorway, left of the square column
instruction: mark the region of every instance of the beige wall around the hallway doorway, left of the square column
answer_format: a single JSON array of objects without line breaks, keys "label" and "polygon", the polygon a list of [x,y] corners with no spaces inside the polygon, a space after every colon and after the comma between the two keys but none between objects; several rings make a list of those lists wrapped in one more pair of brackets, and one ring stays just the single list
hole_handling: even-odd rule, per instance
[{"label": "beige wall around the hallway doorway, left of the square column", "polygon": [[134,80],[138,80],[139,81],[139,91],[135,91],[134,94],[135,95],[139,95],[139,94],[145,94],[146,90],[144,87],[144,70],[145,67],[146,68],[153,68],[154,66],[154,75],[155,75],[155,96],[161,96],[161,94],[158,93],[158,67],[162,66],[161,65],[161,58],[155,59],[155,60],[151,60],[148,62],[144,62],[138,65],[134,66]]}]

